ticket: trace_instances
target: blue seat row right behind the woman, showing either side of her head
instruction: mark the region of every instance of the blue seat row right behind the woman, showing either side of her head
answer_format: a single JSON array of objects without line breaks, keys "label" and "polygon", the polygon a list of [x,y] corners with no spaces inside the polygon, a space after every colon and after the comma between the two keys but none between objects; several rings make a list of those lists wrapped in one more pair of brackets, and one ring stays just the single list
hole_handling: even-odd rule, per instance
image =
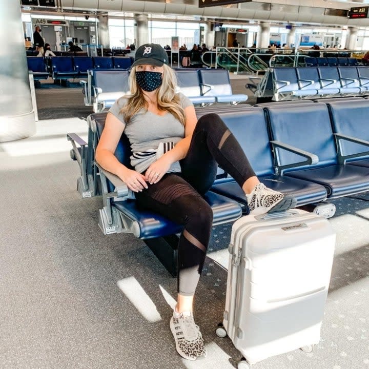
[{"label": "blue seat row right behind the woman, showing either side of her head", "polygon": [[[244,94],[233,94],[229,72],[225,69],[175,69],[179,91],[194,105],[228,103],[236,105],[248,99]],[[83,86],[86,106],[101,112],[129,92],[129,72],[126,70],[90,69]]]}]

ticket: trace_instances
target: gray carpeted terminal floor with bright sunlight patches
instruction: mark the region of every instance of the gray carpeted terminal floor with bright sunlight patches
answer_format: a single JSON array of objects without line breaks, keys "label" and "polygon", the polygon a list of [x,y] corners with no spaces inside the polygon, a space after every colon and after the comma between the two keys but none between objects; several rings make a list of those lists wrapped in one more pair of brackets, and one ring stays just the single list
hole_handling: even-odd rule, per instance
[{"label": "gray carpeted terminal floor with bright sunlight patches", "polygon": [[[231,76],[247,93],[244,76]],[[101,198],[76,191],[66,134],[87,137],[81,88],[36,90],[36,134],[0,144],[0,367],[2,369],[226,369],[240,353],[215,334],[226,299],[231,224],[213,227],[194,316],[208,356],[182,359],[169,319],[177,281],[131,234],[105,236]],[[255,369],[369,368],[369,193],[332,200],[337,232],[320,343]],[[319,258],[319,255],[316,255]],[[311,265],[314,273],[314,265]],[[306,312],[309,314],[309,312]]]}]

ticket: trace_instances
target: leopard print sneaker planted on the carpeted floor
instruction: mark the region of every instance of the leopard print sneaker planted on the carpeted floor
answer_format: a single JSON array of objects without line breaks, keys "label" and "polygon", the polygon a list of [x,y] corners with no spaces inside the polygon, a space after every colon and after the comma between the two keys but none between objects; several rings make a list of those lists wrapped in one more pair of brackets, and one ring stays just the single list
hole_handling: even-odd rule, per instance
[{"label": "leopard print sneaker planted on the carpeted floor", "polygon": [[173,312],[169,323],[176,349],[180,356],[188,360],[196,360],[199,356],[207,356],[202,335],[195,324],[191,312]]}]

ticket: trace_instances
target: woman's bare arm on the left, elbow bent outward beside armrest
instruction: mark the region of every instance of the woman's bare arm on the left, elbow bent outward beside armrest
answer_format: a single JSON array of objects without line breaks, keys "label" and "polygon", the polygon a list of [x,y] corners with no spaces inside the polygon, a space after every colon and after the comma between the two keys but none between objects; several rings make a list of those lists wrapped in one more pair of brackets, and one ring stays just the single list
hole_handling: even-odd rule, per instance
[{"label": "woman's bare arm on the left, elbow bent outward beside armrest", "polygon": [[101,167],[116,174],[122,181],[126,182],[129,189],[138,192],[144,187],[147,188],[145,177],[122,165],[114,155],[124,128],[125,126],[117,117],[108,113],[103,133],[96,148],[95,159]]}]

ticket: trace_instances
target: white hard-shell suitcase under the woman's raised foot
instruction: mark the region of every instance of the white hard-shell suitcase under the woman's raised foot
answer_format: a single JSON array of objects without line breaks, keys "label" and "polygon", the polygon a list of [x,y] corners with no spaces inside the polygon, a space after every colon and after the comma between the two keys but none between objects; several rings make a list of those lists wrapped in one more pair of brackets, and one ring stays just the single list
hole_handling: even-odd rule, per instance
[{"label": "white hard-shell suitcase under the woman's raised foot", "polygon": [[294,209],[249,215],[232,227],[226,309],[217,334],[248,367],[318,344],[336,234],[330,222]]}]

